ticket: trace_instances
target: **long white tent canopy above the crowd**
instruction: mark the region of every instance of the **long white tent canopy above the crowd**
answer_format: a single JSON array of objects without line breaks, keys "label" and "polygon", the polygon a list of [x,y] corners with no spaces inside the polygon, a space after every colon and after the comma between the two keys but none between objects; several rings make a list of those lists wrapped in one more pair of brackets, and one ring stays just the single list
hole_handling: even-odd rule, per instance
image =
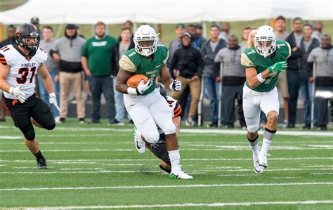
[{"label": "long white tent canopy above the crowd", "polygon": [[126,20],[149,23],[237,21],[301,17],[306,20],[333,20],[329,0],[30,0],[4,11],[0,22],[19,24],[37,16],[43,24],[107,24]]}]

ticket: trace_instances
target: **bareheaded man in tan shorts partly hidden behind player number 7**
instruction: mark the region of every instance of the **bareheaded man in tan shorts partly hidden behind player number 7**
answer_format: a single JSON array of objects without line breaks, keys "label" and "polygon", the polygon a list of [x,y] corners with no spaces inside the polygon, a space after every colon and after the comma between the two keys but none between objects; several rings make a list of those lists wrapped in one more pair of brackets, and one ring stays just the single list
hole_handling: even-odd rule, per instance
[{"label": "bareheaded man in tan shorts partly hidden behind player number 7", "polygon": [[[289,33],[286,32],[286,19],[282,15],[278,16],[275,19],[275,32],[276,32],[276,39],[285,41],[285,39],[289,36]],[[288,90],[288,82],[287,82],[287,72],[280,72],[278,78],[278,84],[276,85],[278,91],[282,95],[283,98],[283,105],[285,111],[285,120],[284,120],[284,127],[288,126],[289,122],[289,111],[288,111],[288,102],[289,102],[289,90]]]}]

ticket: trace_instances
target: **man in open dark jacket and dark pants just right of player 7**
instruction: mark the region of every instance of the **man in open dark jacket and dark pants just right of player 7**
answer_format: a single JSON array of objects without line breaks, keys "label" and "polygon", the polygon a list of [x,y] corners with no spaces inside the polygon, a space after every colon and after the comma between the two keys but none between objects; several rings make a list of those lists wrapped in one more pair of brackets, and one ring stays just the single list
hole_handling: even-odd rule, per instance
[{"label": "man in open dark jacket and dark pants just right of player 7", "polygon": [[289,89],[289,122],[287,128],[291,129],[295,127],[296,112],[297,112],[297,100],[299,98],[299,88],[301,88],[301,77],[304,77],[301,69],[301,41],[303,39],[303,20],[301,18],[295,18],[293,21],[294,32],[289,34],[285,39],[292,48],[292,55],[288,58],[287,68],[287,82]]}]

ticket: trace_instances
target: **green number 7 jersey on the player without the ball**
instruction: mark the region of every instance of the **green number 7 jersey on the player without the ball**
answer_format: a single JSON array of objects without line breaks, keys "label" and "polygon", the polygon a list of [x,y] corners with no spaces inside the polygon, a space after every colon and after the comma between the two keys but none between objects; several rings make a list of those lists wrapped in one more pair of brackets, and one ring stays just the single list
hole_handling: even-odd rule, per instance
[{"label": "green number 7 jersey on the player without the ball", "polygon": [[[280,61],[287,60],[291,55],[292,51],[290,45],[285,41],[276,41],[276,49],[275,55],[273,58],[263,58],[262,55],[256,53],[256,49],[254,47],[248,48],[242,53],[241,63],[242,66],[247,67],[254,67],[256,68],[257,74],[267,70],[268,67],[278,63]],[[279,73],[274,72],[268,75],[266,80],[259,84],[258,86],[252,88],[254,91],[258,92],[268,92],[275,88],[276,84],[278,83]],[[246,85],[250,88],[249,84]]]}]

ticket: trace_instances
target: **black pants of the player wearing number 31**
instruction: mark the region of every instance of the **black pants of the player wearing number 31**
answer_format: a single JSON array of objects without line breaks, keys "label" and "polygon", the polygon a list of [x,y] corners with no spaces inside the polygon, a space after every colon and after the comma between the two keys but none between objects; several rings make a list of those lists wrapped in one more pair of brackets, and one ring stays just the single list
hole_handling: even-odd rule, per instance
[{"label": "black pants of the player wearing number 31", "polygon": [[22,133],[34,131],[31,117],[45,129],[54,128],[55,122],[50,107],[35,94],[30,96],[25,103],[18,100],[5,98],[6,110],[13,118],[14,124]]}]

